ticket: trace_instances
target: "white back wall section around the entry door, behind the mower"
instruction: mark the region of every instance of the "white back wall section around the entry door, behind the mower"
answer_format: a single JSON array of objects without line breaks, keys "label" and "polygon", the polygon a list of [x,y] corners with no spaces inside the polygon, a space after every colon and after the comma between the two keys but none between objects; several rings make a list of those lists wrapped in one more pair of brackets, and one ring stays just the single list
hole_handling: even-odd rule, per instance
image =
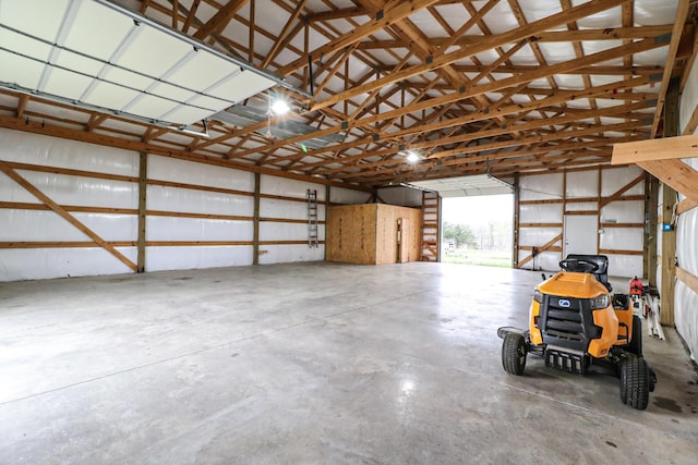
[{"label": "white back wall section around the entry door, behind the mower", "polygon": [[598,236],[598,249],[589,254],[607,255],[612,276],[642,276],[645,182],[615,201],[605,200],[641,174],[633,167],[520,176],[518,261],[530,258],[533,247],[542,250],[551,244],[522,268],[557,270],[563,258],[565,215],[588,213],[599,215],[598,231],[592,232]]}]

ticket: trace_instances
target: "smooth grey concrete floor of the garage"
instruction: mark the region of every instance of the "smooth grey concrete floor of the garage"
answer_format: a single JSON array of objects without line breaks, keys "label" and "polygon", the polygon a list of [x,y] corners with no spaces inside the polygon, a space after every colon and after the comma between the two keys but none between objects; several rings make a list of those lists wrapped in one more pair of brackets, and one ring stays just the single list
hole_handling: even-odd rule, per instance
[{"label": "smooth grey concrete floor of the garage", "polygon": [[[0,283],[0,463],[696,464],[698,374],[503,371],[540,273],[290,264]],[[623,281],[625,289],[625,281]]]}]

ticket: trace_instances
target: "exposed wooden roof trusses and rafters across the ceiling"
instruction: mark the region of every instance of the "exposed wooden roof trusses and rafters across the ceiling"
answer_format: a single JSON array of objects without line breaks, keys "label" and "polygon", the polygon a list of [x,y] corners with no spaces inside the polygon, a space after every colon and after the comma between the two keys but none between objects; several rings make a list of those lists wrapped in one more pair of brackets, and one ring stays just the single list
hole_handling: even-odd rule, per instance
[{"label": "exposed wooden roof trusses and rafters across the ceiling", "polygon": [[[0,89],[0,126],[366,187],[397,176],[609,164],[614,143],[663,131],[655,115],[666,79],[686,83],[695,60],[695,2],[665,5],[677,12],[674,24],[637,26],[635,0],[546,1],[557,12],[541,17],[520,0],[357,0],[351,8],[337,0],[141,0],[134,8],[148,17],[285,75],[291,86],[310,90],[312,72],[314,97],[285,89],[300,109],[294,114],[244,127],[212,119],[203,137]],[[516,26],[500,34],[504,14]],[[570,52],[551,53],[562,50],[555,44]],[[244,105],[268,103],[257,96]],[[698,127],[698,110],[690,110],[685,134]],[[265,137],[268,124],[288,120],[315,132]],[[336,142],[301,148],[325,136]],[[422,160],[407,166],[402,148],[420,150]]]}]

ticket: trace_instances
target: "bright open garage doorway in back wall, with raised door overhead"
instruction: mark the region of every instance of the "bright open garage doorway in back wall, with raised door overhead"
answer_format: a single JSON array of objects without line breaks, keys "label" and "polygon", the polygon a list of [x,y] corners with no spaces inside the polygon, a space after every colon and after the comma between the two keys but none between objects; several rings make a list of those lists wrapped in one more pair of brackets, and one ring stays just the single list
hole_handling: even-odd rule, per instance
[{"label": "bright open garage doorway in back wall, with raised door overhead", "polygon": [[513,186],[490,175],[412,183],[442,197],[441,261],[512,267]]}]

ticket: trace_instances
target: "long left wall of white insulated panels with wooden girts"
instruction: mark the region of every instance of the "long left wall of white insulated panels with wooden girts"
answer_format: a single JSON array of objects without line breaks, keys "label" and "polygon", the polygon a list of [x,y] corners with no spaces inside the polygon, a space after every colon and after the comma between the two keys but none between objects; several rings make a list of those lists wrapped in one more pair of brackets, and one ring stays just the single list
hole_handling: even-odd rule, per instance
[{"label": "long left wall of white insulated panels with wooden girts", "polygon": [[[0,130],[0,160],[136,261],[137,152]],[[253,173],[148,155],[147,179],[146,271],[253,262]],[[317,191],[322,242],[326,186],[260,179],[260,264],[324,259],[324,244],[308,246],[306,192]],[[330,195],[333,203],[370,198],[349,188],[333,187]],[[125,272],[128,266],[0,172],[0,281]]]}]

